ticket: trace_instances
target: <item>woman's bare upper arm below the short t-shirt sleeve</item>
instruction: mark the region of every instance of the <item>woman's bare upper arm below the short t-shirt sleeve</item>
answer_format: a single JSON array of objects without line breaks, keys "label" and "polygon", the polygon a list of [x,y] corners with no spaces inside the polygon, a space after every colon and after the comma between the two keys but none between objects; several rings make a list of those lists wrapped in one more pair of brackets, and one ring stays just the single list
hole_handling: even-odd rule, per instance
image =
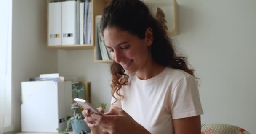
[{"label": "woman's bare upper arm below the short t-shirt sleeve", "polygon": [[201,134],[201,117],[173,119],[174,134]]}]

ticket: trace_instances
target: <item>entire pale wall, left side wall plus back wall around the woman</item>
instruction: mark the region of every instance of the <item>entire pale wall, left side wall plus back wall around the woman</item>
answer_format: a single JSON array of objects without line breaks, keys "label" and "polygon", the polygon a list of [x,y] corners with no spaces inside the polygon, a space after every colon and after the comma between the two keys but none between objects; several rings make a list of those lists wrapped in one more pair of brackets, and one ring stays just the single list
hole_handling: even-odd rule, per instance
[{"label": "entire pale wall, left side wall plus back wall around the woman", "polygon": [[[174,40],[201,79],[202,123],[233,124],[256,133],[256,1],[177,2],[179,35]],[[12,51],[16,131],[21,130],[20,82],[40,73],[58,70],[64,77],[91,81],[93,106],[106,102],[109,108],[109,64],[93,62],[93,50],[59,50],[57,60],[57,52],[46,48],[46,0],[13,0]]]}]

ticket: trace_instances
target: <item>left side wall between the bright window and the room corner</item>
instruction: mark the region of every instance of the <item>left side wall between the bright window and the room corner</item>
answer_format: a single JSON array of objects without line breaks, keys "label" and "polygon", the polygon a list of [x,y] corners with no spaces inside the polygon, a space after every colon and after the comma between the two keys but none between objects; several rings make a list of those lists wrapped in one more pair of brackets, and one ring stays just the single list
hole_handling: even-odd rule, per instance
[{"label": "left side wall between the bright window and the room corner", "polygon": [[46,0],[13,0],[11,106],[16,132],[21,131],[21,82],[57,72],[57,51],[46,48],[46,13]]}]

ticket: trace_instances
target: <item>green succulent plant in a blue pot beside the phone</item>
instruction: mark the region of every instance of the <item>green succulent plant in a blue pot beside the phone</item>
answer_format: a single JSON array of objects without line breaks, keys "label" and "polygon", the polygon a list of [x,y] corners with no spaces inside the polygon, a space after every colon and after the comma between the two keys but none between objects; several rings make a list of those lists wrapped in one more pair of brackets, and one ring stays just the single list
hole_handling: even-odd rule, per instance
[{"label": "green succulent plant in a blue pot beside the phone", "polygon": [[[106,109],[107,103],[101,103],[100,106]],[[81,130],[90,132],[91,129],[85,123],[84,117],[82,115],[83,108],[79,107],[77,103],[73,103],[71,105],[71,109],[73,110],[73,115],[67,121],[67,128],[63,131],[57,128],[58,133],[64,134],[65,132],[69,131],[70,123],[72,124],[73,134],[78,134]]]}]

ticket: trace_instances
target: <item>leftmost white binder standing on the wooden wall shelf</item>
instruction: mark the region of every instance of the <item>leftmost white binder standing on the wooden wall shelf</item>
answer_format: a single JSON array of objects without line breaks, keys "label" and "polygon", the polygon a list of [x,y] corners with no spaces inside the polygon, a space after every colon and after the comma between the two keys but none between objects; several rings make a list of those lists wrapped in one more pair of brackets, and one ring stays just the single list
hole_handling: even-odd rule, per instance
[{"label": "leftmost white binder standing on the wooden wall shelf", "polygon": [[61,45],[61,2],[49,3],[48,46]]}]

